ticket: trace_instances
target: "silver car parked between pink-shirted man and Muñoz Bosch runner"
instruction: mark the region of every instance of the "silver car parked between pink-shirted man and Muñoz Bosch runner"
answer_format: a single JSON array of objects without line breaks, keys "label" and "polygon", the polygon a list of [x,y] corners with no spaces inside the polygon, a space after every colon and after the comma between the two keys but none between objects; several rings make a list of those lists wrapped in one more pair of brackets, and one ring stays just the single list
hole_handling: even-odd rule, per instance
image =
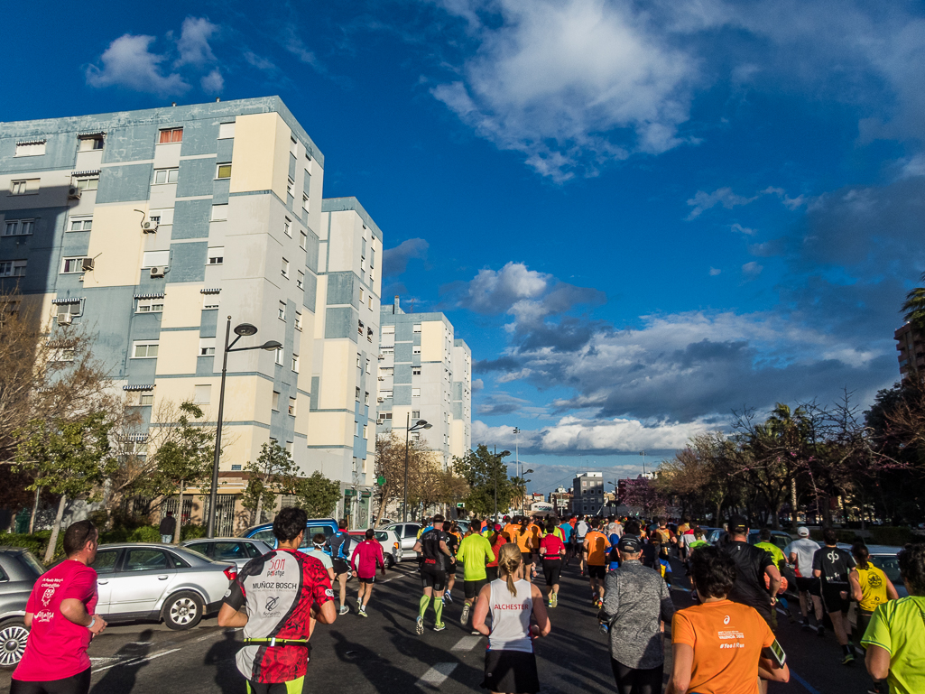
[{"label": "silver car parked between pink-shirted man and Mu\u00f1oz Bosch runner", "polygon": [[238,573],[234,564],[154,542],[100,545],[93,569],[99,594],[96,612],[106,621],[163,619],[178,630],[216,613]]}]

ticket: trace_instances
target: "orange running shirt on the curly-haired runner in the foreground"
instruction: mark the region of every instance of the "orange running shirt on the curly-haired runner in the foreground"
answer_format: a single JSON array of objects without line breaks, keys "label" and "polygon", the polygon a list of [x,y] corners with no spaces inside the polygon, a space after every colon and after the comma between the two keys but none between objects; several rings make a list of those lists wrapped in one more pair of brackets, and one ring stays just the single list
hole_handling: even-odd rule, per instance
[{"label": "orange running shirt on the curly-haired runner in the foreground", "polygon": [[672,643],[694,649],[691,683],[697,694],[758,694],[761,649],[771,646],[771,627],[753,607],[723,600],[674,613]]}]

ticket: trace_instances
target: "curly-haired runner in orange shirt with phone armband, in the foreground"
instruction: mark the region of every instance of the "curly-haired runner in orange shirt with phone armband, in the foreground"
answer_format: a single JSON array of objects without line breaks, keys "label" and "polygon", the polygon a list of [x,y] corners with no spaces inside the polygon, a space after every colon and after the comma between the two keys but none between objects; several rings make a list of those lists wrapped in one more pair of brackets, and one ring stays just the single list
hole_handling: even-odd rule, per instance
[{"label": "curly-haired runner in orange shirt with phone armband, in the foreground", "polygon": [[753,608],[727,599],[735,575],[733,557],[719,548],[700,547],[691,555],[700,604],[674,613],[672,679],[665,694],[754,692],[756,682],[763,692],[765,680],[790,679],[786,664],[776,668],[761,657],[775,640],[767,621]]}]

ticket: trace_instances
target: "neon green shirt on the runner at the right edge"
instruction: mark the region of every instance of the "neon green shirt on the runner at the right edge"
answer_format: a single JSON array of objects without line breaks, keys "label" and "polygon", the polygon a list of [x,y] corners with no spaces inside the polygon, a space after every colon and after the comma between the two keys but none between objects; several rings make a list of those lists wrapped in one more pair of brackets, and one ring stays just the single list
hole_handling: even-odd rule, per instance
[{"label": "neon green shirt on the runner at the right edge", "polygon": [[925,691],[925,598],[910,595],[877,605],[861,644],[889,651],[893,694]]}]

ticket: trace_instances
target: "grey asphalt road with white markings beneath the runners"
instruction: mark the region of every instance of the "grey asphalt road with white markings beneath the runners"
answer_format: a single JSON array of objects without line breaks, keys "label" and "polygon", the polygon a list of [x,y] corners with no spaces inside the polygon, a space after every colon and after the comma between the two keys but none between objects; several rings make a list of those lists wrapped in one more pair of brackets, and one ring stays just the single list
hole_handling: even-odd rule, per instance
[{"label": "grey asphalt road with white markings beneath the runners", "polygon": [[[444,610],[445,631],[435,633],[433,612],[425,622],[424,636],[414,634],[414,616],[420,596],[416,564],[400,564],[376,584],[369,617],[350,614],[331,626],[319,625],[312,638],[312,661],[306,691],[364,694],[404,694],[408,691],[483,691],[485,639],[462,628],[462,582],[459,601]],[[541,578],[541,576],[540,576]],[[675,584],[684,582],[683,578]],[[356,583],[348,584],[348,601],[355,607]],[[691,604],[678,586],[675,604]],[[612,692],[610,650],[598,633],[586,579],[573,564],[562,577],[559,607],[550,611],[552,633],[537,641],[539,678],[544,694],[557,692]],[[771,685],[771,692],[795,694],[864,694],[869,679],[862,660],[851,667],[840,661],[833,635],[818,638],[791,625],[781,615],[778,629],[791,665],[787,685]],[[110,626],[93,640],[93,694],[244,694],[243,679],[235,669],[234,655],[240,632],[221,629],[215,619],[189,631],[170,631],[163,625]],[[671,671],[669,644],[667,675]],[[0,688],[8,688],[9,673],[0,673]]]}]

